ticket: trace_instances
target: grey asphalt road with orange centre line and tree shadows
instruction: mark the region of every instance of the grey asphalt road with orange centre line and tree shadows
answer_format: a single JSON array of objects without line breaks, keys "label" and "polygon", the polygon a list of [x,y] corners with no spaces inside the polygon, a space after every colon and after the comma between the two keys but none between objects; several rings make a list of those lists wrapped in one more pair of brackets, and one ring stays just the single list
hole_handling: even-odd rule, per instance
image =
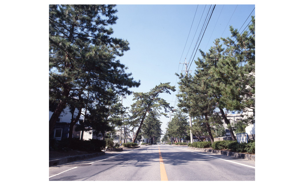
[{"label": "grey asphalt road with orange centre line and tree shadows", "polygon": [[151,145],[49,167],[49,180],[251,181],[255,180],[255,162],[187,146]]}]

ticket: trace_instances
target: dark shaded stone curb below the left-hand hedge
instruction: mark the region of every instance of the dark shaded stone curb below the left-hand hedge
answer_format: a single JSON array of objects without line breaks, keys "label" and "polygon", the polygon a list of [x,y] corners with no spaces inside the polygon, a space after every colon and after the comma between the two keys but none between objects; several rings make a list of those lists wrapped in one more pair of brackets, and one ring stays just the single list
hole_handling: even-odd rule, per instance
[{"label": "dark shaded stone curb below the left-hand hedge", "polygon": [[86,160],[86,159],[90,159],[90,158],[94,158],[94,157],[98,157],[98,156],[102,156],[102,155],[105,155],[105,152],[71,156],[71,157],[65,157],[62,159],[54,159],[54,160],[49,161],[49,167],[56,166],[58,164],[69,163],[69,162],[73,162],[73,161]]}]

